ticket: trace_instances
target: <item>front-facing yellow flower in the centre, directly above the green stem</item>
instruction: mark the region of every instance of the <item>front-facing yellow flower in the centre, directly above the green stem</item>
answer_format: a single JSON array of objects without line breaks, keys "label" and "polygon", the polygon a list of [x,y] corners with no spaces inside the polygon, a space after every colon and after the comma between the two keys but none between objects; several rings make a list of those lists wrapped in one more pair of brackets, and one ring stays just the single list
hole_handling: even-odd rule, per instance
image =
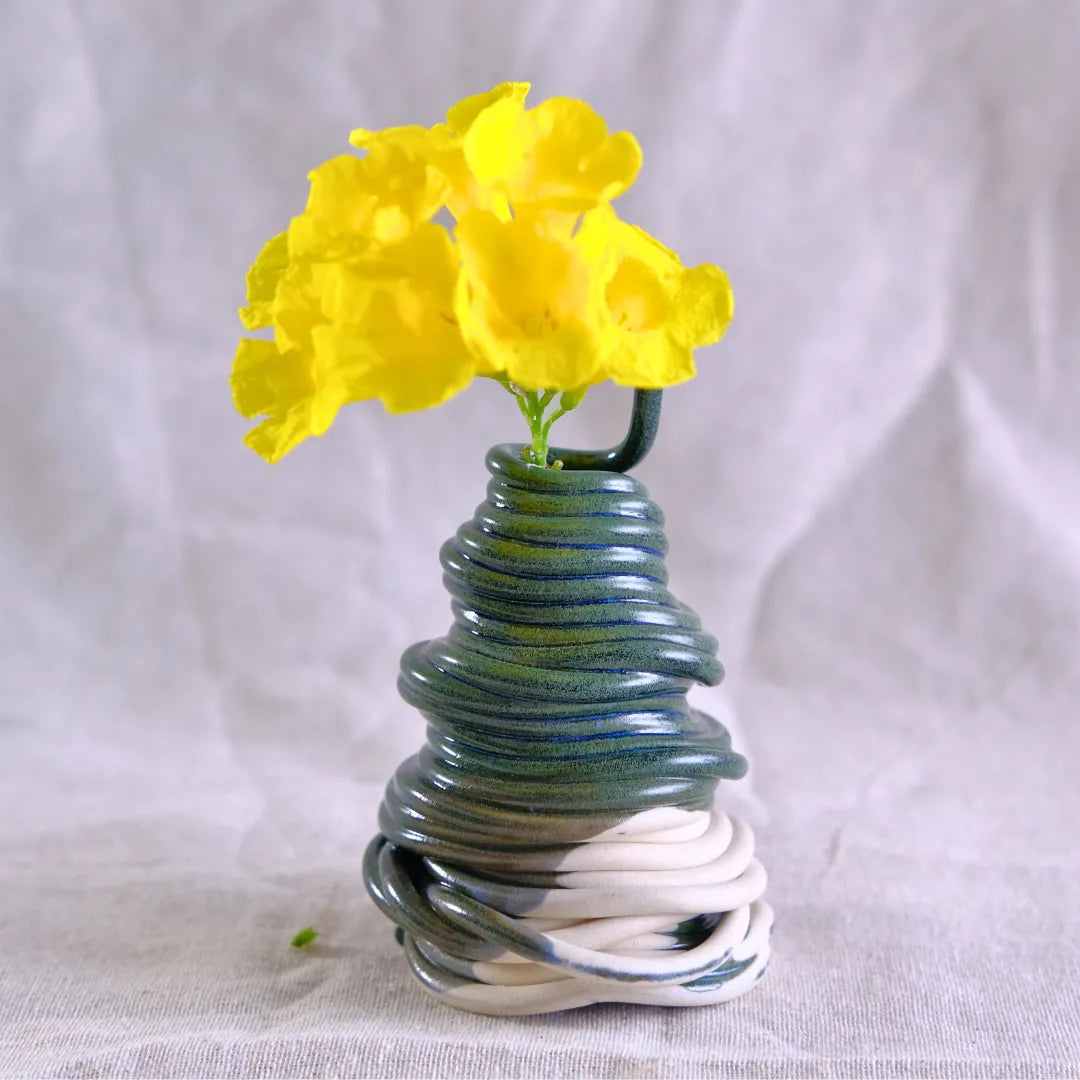
[{"label": "front-facing yellow flower in the centre, directly above the green stem", "polygon": [[536,217],[500,221],[486,211],[467,214],[455,235],[455,311],[480,374],[530,390],[596,381],[602,310],[581,246]]}]

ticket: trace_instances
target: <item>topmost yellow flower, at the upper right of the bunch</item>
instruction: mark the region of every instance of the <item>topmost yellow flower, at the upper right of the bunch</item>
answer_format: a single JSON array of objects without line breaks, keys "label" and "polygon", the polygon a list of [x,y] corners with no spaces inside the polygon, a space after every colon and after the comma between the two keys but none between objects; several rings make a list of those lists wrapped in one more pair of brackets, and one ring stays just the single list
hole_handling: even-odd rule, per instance
[{"label": "topmost yellow flower, at the upper right of the bunch", "polygon": [[464,136],[470,172],[483,187],[505,195],[517,213],[578,214],[622,194],[642,167],[642,148],[630,132],[608,135],[584,102],[552,97],[526,109],[508,96],[485,108]]}]

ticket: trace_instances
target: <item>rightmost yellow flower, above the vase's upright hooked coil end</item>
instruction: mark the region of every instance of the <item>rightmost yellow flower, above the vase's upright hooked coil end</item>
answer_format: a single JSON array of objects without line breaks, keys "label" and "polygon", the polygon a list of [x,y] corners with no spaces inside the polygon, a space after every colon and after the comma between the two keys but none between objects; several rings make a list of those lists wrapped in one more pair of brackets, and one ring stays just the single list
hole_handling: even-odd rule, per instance
[{"label": "rightmost yellow flower, above the vase's upright hooked coil end", "polygon": [[576,240],[596,267],[607,376],[642,390],[692,378],[693,350],[718,341],[731,322],[727,274],[708,264],[684,267],[674,252],[620,221],[609,206],[586,214]]}]

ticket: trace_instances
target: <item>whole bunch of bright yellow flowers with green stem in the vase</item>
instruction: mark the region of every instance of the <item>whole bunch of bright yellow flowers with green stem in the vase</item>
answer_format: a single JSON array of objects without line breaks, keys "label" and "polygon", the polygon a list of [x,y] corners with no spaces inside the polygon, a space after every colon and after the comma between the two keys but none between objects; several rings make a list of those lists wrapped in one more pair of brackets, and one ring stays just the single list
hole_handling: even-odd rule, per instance
[{"label": "whole bunch of bright yellow flowers with green stem in the vase", "polygon": [[[237,408],[262,418],[246,442],[264,457],[322,434],[348,402],[427,408],[475,375],[516,388],[542,457],[555,391],[562,415],[607,378],[650,389],[694,374],[693,349],[730,321],[727,278],[683,267],[610,208],[640,167],[633,135],[571,98],[527,109],[528,91],[501,83],[433,127],[357,129],[366,156],[311,172],[240,311],[273,329],[241,341],[231,380]],[[454,240],[431,220],[442,206]]]}]

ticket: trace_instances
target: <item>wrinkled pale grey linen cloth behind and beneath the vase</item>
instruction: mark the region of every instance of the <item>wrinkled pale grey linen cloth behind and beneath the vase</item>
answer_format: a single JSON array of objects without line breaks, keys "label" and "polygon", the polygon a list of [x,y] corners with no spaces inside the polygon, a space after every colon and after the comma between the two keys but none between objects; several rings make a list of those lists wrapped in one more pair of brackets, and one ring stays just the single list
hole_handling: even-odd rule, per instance
[{"label": "wrinkled pale grey linen cloth behind and beneath the vase", "polygon": [[[9,0],[0,1074],[1076,1076],[1078,56],[1075,2]],[[636,470],[778,910],[727,1007],[421,994],[360,856],[524,423],[485,382],[269,467],[230,402],[308,170],[504,79],[635,132],[623,216],[735,292]]]}]

